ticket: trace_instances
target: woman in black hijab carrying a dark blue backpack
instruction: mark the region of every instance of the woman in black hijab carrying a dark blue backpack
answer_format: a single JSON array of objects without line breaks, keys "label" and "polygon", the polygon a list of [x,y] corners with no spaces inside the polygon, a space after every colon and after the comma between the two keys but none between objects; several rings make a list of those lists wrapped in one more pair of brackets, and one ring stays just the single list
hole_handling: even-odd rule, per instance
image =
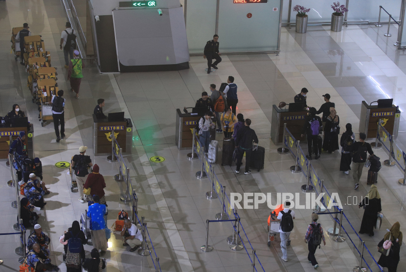
[{"label": "woman in black hijab carrying a dark blue backpack", "polygon": [[[82,250],[79,253],[73,253],[69,251],[69,239],[77,237],[82,241]],[[85,259],[85,249],[83,245],[86,245],[88,239],[86,239],[85,233],[80,229],[79,222],[73,221],[72,227],[68,228],[68,232],[65,233],[64,242],[68,241],[68,247],[66,250],[66,268],[67,272],[82,272],[82,260]]]}]

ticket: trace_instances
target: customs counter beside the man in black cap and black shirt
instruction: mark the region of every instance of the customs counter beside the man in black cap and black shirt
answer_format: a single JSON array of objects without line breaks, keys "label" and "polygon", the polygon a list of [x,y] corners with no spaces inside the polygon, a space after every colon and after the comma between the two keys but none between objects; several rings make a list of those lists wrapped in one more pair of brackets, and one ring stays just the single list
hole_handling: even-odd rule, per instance
[{"label": "customs counter beside the man in black cap and black shirt", "polygon": [[271,139],[274,144],[281,144],[283,137],[283,124],[292,133],[296,140],[301,143],[306,142],[306,137],[301,137],[302,129],[308,111],[289,112],[287,109],[279,109],[276,105],[272,106]]}]

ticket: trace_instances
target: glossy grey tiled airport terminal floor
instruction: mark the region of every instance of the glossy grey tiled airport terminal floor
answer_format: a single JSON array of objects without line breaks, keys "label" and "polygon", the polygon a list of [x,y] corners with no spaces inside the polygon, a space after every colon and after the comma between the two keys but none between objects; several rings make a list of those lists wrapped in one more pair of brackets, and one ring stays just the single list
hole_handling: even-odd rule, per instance
[{"label": "glossy grey tiled airport terminal floor", "polygon": [[[125,112],[134,124],[132,155],[125,156],[130,168],[132,185],[138,197],[138,217],[145,217],[149,233],[147,241],[151,251],[159,257],[162,272],[243,272],[251,271],[252,249],[261,264],[256,262],[256,271],[305,272],[314,268],[307,260],[308,249],[304,242],[307,226],[311,223],[312,209],[295,211],[291,244],[288,246],[288,261],[281,259],[279,236],[268,247],[267,219],[270,209],[260,204],[258,209],[238,210],[244,231],[240,234],[246,249],[229,249],[226,238],[232,235],[229,222],[210,224],[208,244],[211,252],[202,252],[206,240],[206,220],[214,220],[220,212],[218,199],[207,200],[205,193],[210,188],[208,179],[199,180],[195,174],[201,169],[200,160],[188,160],[190,150],[179,151],[175,144],[176,109],[193,107],[202,91],[210,93],[209,85],[220,86],[232,75],[238,85],[237,113],[252,120],[251,128],[259,138],[259,145],[266,149],[265,167],[250,175],[234,173],[235,166],[215,164],[219,181],[226,186],[226,193],[275,193],[301,192],[305,183],[302,173],[292,173],[295,164],[291,155],[278,154],[270,139],[272,105],[279,102],[293,102],[295,94],[302,88],[308,89],[307,104],[319,108],[322,95],[329,93],[336,104],[340,117],[341,133],[345,124],[359,139],[359,118],[361,101],[367,103],[380,98],[393,98],[401,111],[406,110],[406,55],[393,46],[395,35],[386,38],[382,28],[373,25],[348,25],[342,32],[331,32],[330,26],[309,26],[306,34],[297,34],[294,28],[282,27],[281,48],[275,54],[224,55],[218,70],[207,74],[203,57],[191,57],[190,68],[167,72],[137,72],[101,75],[95,65],[86,62],[80,98],[75,99],[69,91],[64,55],[59,49],[60,35],[67,22],[64,7],[59,0],[7,0],[0,1],[0,116],[11,111],[17,103],[34,126],[34,153],[43,163],[44,178],[51,193],[45,196],[47,203],[39,212],[39,224],[51,239],[50,251],[53,264],[60,270],[67,270],[63,261],[64,247],[59,237],[74,220],[80,220],[81,213],[88,208],[78,201],[79,194],[70,191],[68,169],[55,166],[59,161],[70,161],[78,154],[80,146],[88,146],[87,155],[100,167],[104,176],[106,200],[109,208],[108,224],[112,226],[117,213],[124,209],[130,212],[129,204],[120,202],[123,182],[114,181],[118,164],[108,162],[106,157],[94,156],[91,133],[93,128],[92,109],[97,99],[105,99],[104,112]],[[37,105],[31,102],[31,93],[26,88],[27,73],[10,53],[11,29],[29,23],[30,31],[42,35],[47,50],[52,54],[52,65],[58,68],[59,89],[65,91],[66,137],[56,142],[52,122],[41,127],[38,121]],[[385,27],[383,27],[385,28]],[[397,29],[391,26],[395,33]],[[305,39],[305,42],[303,42]],[[221,37],[220,40],[221,41]],[[221,50],[220,50],[221,51]],[[404,90],[405,88],[405,90]],[[223,134],[216,134],[219,140],[221,158]],[[397,143],[406,147],[406,121],[401,116]],[[306,145],[302,146],[307,149]],[[374,153],[387,159],[387,153],[374,149]],[[149,158],[161,156],[163,162],[152,162]],[[352,173],[339,171],[340,153],[322,153],[313,159],[313,167],[329,192],[337,192],[344,200],[343,210],[352,227],[358,232],[363,209],[358,207],[368,193],[367,171],[363,171],[360,187],[354,190]],[[234,164],[233,164],[234,165]],[[243,169],[243,168],[242,168]],[[359,234],[370,253],[378,261],[380,253],[377,244],[395,222],[401,230],[406,227],[406,186],[398,183],[403,173],[397,167],[383,165],[376,184],[382,199],[383,224],[375,235]],[[15,188],[7,186],[10,170],[5,161],[0,162],[0,232],[12,230],[17,211],[10,206],[15,200]],[[347,197],[351,201],[347,204]],[[353,197],[358,202],[353,203]],[[360,239],[346,220],[343,227],[348,233],[342,243],[333,241],[326,230],[333,226],[329,215],[320,215],[318,221],[324,229],[326,246],[316,250],[318,271],[352,271],[359,264],[359,253],[350,241],[360,248]],[[28,231],[29,232],[29,231]],[[154,245],[152,250],[150,240]],[[248,243],[249,240],[249,243]],[[122,245],[119,232],[113,232],[107,253],[107,272],[156,271],[150,256],[140,256]],[[18,256],[14,249],[20,245],[18,235],[1,236],[1,272],[18,271]],[[85,245],[90,257],[92,246]],[[152,252],[155,261],[155,253]],[[365,261],[371,271],[380,271],[371,256],[364,252]],[[365,264],[363,263],[363,266]],[[368,269],[369,270],[369,269]],[[406,270],[406,249],[400,249],[397,271]],[[387,271],[387,269],[385,269]]]}]

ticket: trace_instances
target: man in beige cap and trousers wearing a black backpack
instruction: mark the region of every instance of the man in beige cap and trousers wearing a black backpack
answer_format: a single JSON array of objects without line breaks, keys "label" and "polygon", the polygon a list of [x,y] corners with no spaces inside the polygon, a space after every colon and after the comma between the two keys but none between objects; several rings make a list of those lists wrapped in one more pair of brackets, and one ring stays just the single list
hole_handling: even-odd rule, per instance
[{"label": "man in beige cap and trousers wearing a black backpack", "polygon": [[90,156],[85,156],[86,149],[88,149],[87,146],[81,146],[79,147],[79,155],[73,156],[72,159],[72,169],[75,173],[76,176],[76,183],[78,184],[78,190],[79,190],[79,201],[81,203],[85,203],[85,200],[83,199],[84,194],[83,194],[83,184],[85,184],[86,180],[88,179],[89,171],[88,171],[88,166],[92,166],[93,164],[91,163]]}]

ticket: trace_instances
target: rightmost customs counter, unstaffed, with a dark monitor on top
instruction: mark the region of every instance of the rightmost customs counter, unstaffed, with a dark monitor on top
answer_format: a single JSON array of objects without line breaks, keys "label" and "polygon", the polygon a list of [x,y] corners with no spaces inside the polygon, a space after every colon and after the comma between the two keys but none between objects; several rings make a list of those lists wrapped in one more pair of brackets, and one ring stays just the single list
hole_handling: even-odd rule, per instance
[{"label": "rightmost customs counter, unstaffed, with a dark monitor on top", "polygon": [[378,130],[378,120],[382,120],[382,126],[390,135],[398,136],[400,111],[395,105],[386,108],[378,108],[377,105],[368,105],[365,101],[361,104],[360,132],[367,138],[375,138]]}]

